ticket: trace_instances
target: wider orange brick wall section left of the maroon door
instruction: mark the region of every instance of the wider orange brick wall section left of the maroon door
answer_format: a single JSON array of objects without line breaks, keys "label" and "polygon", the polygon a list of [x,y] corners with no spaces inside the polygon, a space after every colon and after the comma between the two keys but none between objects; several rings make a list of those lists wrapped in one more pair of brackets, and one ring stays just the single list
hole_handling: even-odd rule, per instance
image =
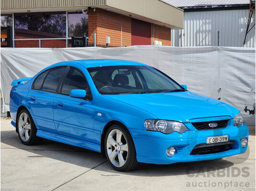
[{"label": "wider orange brick wall section left of the maroon door", "polygon": [[[111,45],[131,46],[131,18],[102,9],[88,13],[89,42],[93,42],[93,35],[97,35],[97,43],[106,44],[106,37],[110,37]],[[121,43],[122,26],[122,43]]]}]

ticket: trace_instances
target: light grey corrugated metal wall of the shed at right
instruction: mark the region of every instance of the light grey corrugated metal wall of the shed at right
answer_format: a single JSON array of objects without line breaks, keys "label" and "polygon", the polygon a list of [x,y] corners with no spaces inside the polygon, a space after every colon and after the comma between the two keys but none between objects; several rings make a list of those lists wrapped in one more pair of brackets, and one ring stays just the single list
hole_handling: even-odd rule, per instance
[{"label": "light grey corrugated metal wall of the shed at right", "polygon": [[184,30],[172,30],[172,46],[217,46],[220,31],[221,46],[253,48],[255,26],[244,44],[248,17],[249,10],[184,12]]}]

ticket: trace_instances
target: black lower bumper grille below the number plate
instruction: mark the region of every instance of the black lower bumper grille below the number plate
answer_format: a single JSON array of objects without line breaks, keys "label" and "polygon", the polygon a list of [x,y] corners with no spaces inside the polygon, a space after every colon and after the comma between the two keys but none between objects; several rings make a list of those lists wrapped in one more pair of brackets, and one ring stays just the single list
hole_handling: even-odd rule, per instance
[{"label": "black lower bumper grille below the number plate", "polygon": [[224,143],[200,144],[194,147],[194,149],[190,152],[190,155],[204,155],[224,152],[232,149],[232,146],[234,144],[234,141],[227,141]]}]

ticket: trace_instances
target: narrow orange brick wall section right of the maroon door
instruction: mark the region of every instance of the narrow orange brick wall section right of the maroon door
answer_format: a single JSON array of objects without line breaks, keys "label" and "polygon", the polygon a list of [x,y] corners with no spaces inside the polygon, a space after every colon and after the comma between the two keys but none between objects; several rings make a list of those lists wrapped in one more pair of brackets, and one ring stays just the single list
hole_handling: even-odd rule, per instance
[{"label": "narrow orange brick wall section right of the maroon door", "polygon": [[[154,34],[154,41],[156,41],[156,24],[153,25],[152,29],[152,23],[151,23],[151,44],[152,42],[152,30]],[[161,41],[163,46],[171,46],[171,29],[157,25],[157,41]]]}]

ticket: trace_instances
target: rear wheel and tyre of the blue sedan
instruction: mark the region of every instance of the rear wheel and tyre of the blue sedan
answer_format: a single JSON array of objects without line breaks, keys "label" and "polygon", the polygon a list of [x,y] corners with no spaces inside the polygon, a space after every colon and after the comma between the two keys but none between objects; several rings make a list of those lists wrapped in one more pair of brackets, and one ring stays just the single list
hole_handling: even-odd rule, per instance
[{"label": "rear wheel and tyre of the blue sedan", "polygon": [[37,128],[27,109],[20,111],[16,120],[16,127],[19,138],[24,145],[36,145],[43,140],[43,138],[36,137]]}]

